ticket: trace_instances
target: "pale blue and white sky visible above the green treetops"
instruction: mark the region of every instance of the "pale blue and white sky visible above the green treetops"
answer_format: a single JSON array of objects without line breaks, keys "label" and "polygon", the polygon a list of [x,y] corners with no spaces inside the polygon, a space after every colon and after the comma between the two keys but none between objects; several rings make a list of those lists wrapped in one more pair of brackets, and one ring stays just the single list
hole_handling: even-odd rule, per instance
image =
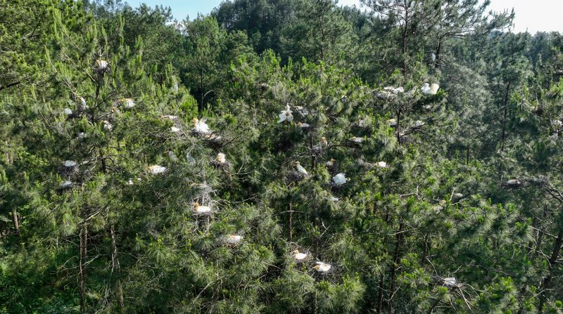
[{"label": "pale blue and white sky visible above the green treetops", "polygon": [[[170,6],[172,14],[177,20],[183,20],[189,15],[191,19],[198,13],[208,14],[219,6],[222,0],[126,0],[129,5],[136,7],[141,3],[148,6]],[[360,0],[339,0],[339,5],[358,6]],[[361,8],[361,7],[360,7]],[[504,11],[514,8],[514,32],[549,32],[563,33],[563,0],[491,0],[490,10]]]}]

